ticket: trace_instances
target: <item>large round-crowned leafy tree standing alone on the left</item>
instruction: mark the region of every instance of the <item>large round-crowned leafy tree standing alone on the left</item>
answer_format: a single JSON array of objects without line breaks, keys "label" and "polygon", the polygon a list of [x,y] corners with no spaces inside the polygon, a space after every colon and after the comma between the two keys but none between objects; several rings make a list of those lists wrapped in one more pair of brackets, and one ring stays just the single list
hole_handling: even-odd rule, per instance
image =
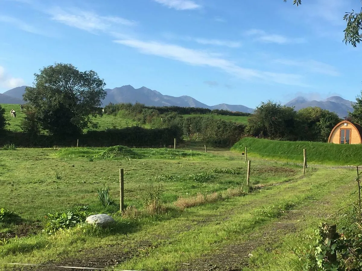
[{"label": "large round-crowned leafy tree standing alone on the left", "polygon": [[24,100],[29,119],[56,136],[75,135],[87,128],[100,112],[105,83],[93,70],[80,72],[71,64],[55,63],[34,74]]}]

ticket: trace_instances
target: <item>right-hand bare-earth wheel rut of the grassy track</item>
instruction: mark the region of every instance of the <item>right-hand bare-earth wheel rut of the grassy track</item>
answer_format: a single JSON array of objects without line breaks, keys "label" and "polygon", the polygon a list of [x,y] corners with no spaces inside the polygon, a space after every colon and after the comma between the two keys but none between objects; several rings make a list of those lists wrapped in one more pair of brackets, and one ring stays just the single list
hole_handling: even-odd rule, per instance
[{"label": "right-hand bare-earth wheel rut of the grassy track", "polygon": [[[351,184],[342,185],[332,190],[331,194],[334,197],[344,197],[349,195],[351,191],[353,191]],[[263,247],[266,251],[274,250],[280,244],[282,237],[307,227],[305,223],[301,223],[306,216],[317,217],[320,221],[327,220],[329,215],[338,211],[338,205],[333,205],[329,200],[330,198],[331,195],[327,195],[319,200],[312,201],[312,204],[304,204],[295,210],[289,210],[277,221],[260,227],[260,232],[250,235],[249,240],[224,246],[215,251],[214,254],[204,254],[190,263],[182,263],[179,265],[178,270],[237,271],[246,267],[256,270],[254,269],[255,266],[249,266],[249,259],[255,249]],[[323,208],[316,209],[315,206],[323,206]],[[321,209],[325,211],[321,211]]]}]

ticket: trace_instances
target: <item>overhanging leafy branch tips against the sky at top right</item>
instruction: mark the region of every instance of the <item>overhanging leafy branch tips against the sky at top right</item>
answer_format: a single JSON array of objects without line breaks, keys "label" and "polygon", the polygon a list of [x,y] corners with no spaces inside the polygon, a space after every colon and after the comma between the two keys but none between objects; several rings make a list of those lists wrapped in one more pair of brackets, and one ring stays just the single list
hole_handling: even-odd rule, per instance
[{"label": "overhanging leafy branch tips against the sky at top right", "polygon": [[[287,2],[287,0],[284,0]],[[293,5],[299,6],[302,4],[302,0],[293,0]],[[360,12],[345,12],[344,16],[341,16],[341,19],[346,21],[346,29],[344,32],[343,41],[347,44],[352,44],[353,47],[357,47],[357,43],[362,41],[362,8]]]}]

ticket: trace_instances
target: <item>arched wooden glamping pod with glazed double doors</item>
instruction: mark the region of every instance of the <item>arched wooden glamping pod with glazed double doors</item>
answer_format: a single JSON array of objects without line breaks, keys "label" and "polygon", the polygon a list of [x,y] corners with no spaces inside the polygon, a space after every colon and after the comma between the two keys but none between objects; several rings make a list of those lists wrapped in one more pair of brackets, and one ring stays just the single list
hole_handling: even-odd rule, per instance
[{"label": "arched wooden glamping pod with glazed double doors", "polygon": [[362,126],[348,120],[341,121],[332,129],[328,143],[361,144]]}]

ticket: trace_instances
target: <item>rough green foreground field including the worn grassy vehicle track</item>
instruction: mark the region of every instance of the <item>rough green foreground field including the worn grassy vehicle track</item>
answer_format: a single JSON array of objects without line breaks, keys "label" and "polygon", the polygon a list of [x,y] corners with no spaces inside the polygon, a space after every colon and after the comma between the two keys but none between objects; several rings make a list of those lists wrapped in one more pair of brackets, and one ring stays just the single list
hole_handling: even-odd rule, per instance
[{"label": "rough green foreground field including the worn grassy vehicle track", "polygon": [[[0,208],[24,219],[19,225],[0,224],[0,270],[12,270],[5,263],[292,270],[298,257],[289,246],[307,245],[304,233],[355,200],[355,172],[348,168],[310,164],[302,177],[297,164],[250,154],[249,189],[239,152],[210,148],[206,154],[190,148],[0,150]],[[134,206],[123,215],[117,203],[119,168],[125,170],[125,204]],[[112,206],[102,207],[97,199],[104,183]],[[163,211],[148,209],[150,197],[159,197]],[[108,229],[41,232],[48,213],[80,206],[88,206],[88,214],[109,213],[116,222]]]}]

